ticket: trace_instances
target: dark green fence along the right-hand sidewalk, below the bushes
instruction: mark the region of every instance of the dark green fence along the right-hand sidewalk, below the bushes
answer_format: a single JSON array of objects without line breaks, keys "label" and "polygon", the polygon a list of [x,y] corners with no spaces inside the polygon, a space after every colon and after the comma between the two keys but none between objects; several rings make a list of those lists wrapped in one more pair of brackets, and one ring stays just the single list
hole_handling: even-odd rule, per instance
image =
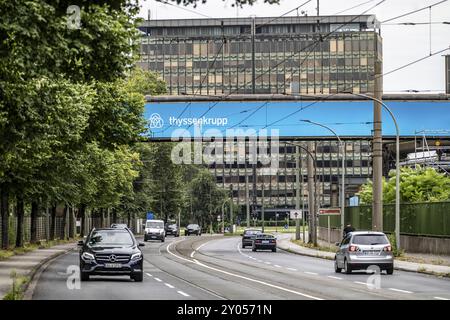
[{"label": "dark green fence along the right-hand sidewalk, below the bushes", "polygon": [[[372,229],[372,206],[345,208],[345,223],[357,230]],[[331,216],[332,228],[340,227],[340,216]],[[319,217],[319,226],[327,227],[327,217]],[[383,206],[383,230],[395,229],[395,205]],[[400,205],[400,232],[405,235],[450,237],[450,202],[404,203]]]}]

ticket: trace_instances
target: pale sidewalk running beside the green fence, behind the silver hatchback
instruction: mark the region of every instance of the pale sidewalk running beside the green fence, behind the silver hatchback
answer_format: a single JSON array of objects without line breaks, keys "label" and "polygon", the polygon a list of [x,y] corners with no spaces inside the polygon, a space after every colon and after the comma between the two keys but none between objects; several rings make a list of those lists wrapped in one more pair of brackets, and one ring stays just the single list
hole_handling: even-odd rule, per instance
[{"label": "pale sidewalk running beside the green fence, behind the silver hatchback", "polygon": [[[334,260],[334,253],[328,252],[328,251],[321,251],[311,248],[302,247],[300,245],[297,245],[295,243],[291,242],[291,239],[294,238],[295,235],[293,234],[277,234],[278,238],[278,247],[280,249],[301,254],[304,256],[310,256],[310,257],[316,257],[316,258],[322,258],[322,259],[328,259],[328,260]],[[321,246],[328,246],[327,242],[320,241],[319,245]],[[424,257],[424,255],[421,254],[411,254],[408,253],[407,256],[414,257],[414,256],[421,256]],[[445,260],[448,257],[444,257]],[[394,268],[397,270],[402,271],[410,271],[410,272],[421,272],[426,274],[433,274],[438,276],[450,276],[450,266],[445,265],[435,265],[430,263],[420,263],[420,262],[409,262],[409,261],[401,261],[399,259],[395,259],[394,261]]]}]

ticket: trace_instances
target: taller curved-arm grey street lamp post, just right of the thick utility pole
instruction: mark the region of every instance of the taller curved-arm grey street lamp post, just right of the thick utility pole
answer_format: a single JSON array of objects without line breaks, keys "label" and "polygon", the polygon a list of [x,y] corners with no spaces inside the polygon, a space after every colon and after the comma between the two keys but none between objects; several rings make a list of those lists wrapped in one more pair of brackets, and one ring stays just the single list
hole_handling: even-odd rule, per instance
[{"label": "taller curved-arm grey street lamp post, just right of the thick utility pole", "polygon": [[397,249],[400,249],[400,130],[398,128],[397,119],[394,117],[394,114],[392,113],[392,110],[380,99],[371,97],[369,95],[365,95],[362,93],[353,93],[349,92],[350,94],[354,94],[355,96],[360,96],[366,99],[370,99],[373,101],[378,102],[381,104],[386,111],[391,116],[392,120],[395,124],[395,131],[396,131],[396,137],[395,137],[395,241],[397,244]]}]

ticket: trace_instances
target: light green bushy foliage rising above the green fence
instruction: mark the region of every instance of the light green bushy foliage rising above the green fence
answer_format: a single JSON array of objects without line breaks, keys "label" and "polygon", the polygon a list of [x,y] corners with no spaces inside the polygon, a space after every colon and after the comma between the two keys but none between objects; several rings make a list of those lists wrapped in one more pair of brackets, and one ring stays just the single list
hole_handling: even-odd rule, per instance
[{"label": "light green bushy foliage rising above the green fence", "polygon": [[[368,181],[359,192],[361,203],[372,202],[372,182]],[[433,168],[408,168],[400,171],[400,201],[436,202],[450,200],[450,177]],[[395,171],[389,173],[389,181],[383,181],[384,203],[395,202]]]}]

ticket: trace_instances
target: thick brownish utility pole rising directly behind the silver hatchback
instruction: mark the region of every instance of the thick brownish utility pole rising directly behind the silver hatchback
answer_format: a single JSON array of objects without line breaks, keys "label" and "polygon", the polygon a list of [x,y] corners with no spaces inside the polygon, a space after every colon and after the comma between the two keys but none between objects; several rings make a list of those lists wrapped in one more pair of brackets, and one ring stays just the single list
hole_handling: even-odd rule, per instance
[{"label": "thick brownish utility pole rising directly behind the silver hatchback", "polygon": [[[382,95],[382,66],[380,61],[375,62],[374,97],[377,100]],[[381,132],[381,109],[379,101],[373,101],[373,143],[372,143],[372,170],[373,170],[373,202],[372,202],[372,230],[383,231],[383,140]]]}]

